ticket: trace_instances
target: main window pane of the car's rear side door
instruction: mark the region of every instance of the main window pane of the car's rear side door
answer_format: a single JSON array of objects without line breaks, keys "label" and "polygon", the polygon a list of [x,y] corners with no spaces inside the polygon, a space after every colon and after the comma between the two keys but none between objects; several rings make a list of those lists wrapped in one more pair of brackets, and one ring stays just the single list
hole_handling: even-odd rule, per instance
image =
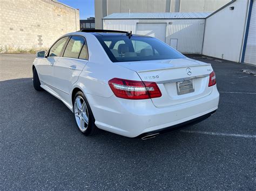
[{"label": "main window pane of the car's rear side door", "polygon": [[83,37],[73,36],[68,45],[66,46],[63,57],[78,58],[81,48],[83,47],[85,40]]}]

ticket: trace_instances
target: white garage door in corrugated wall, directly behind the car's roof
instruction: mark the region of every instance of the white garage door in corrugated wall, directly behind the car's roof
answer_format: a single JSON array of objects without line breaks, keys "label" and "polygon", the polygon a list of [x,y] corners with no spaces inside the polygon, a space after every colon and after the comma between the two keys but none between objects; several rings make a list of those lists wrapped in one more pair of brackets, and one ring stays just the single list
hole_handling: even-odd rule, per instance
[{"label": "white garage door in corrugated wall, directly behind the car's roof", "polygon": [[166,23],[137,23],[137,34],[156,37],[165,42]]}]

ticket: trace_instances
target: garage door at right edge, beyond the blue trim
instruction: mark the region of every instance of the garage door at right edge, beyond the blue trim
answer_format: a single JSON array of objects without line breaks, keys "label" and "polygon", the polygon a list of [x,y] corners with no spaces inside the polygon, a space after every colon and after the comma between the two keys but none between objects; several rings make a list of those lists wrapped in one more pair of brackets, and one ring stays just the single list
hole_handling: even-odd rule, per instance
[{"label": "garage door at right edge, beyond the blue trim", "polygon": [[245,63],[256,65],[256,1],[253,1],[248,38],[245,49]]}]

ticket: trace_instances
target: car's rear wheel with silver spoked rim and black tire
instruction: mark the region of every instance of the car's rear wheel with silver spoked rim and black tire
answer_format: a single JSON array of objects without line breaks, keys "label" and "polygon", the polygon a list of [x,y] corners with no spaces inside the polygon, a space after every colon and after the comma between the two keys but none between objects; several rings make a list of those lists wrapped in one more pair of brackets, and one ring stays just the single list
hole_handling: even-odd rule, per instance
[{"label": "car's rear wheel with silver spoked rim and black tire", "polygon": [[78,91],[73,98],[73,113],[80,132],[82,132],[85,136],[92,136],[97,133],[98,128],[95,125],[95,118],[82,91]]}]

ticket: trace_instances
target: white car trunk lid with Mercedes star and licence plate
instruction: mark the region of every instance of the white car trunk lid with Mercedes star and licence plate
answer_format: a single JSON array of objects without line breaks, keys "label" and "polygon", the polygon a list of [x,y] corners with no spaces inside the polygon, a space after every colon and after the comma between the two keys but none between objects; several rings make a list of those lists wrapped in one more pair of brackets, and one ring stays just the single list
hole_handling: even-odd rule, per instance
[{"label": "white car trunk lid with Mercedes star and licence plate", "polygon": [[156,107],[183,104],[211,93],[208,87],[212,67],[192,59],[118,62],[138,73],[142,81],[156,82],[162,96],[152,98]]}]

